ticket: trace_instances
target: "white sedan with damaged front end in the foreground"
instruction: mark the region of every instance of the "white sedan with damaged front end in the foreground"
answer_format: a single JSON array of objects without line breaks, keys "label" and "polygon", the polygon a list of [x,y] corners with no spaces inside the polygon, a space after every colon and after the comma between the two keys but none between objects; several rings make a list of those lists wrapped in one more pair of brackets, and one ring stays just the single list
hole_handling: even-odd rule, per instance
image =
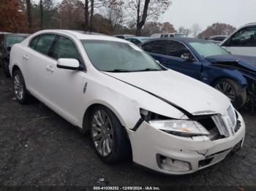
[{"label": "white sedan with damaged front end in the foreground", "polygon": [[229,99],[165,69],[134,44],[78,31],[39,31],[12,47],[15,96],[34,95],[89,131],[97,155],[165,174],[189,174],[223,160],[244,140]]}]

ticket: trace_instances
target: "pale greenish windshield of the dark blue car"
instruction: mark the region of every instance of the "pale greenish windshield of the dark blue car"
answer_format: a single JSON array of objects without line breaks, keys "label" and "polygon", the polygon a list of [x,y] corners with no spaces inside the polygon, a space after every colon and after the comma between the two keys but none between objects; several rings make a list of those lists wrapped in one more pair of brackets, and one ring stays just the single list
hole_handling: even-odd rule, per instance
[{"label": "pale greenish windshield of the dark blue car", "polygon": [[189,42],[189,44],[198,52],[198,54],[205,58],[211,55],[230,55],[230,52],[227,52],[222,47],[219,47],[212,42]]}]

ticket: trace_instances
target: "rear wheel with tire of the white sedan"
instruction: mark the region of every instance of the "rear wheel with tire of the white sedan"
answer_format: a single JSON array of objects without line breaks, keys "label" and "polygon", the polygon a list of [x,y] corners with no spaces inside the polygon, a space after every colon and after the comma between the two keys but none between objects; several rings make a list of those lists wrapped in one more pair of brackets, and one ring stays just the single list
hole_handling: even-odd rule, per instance
[{"label": "rear wheel with tire of the white sedan", "polygon": [[20,104],[26,104],[29,101],[29,93],[26,90],[23,75],[18,69],[13,72],[12,87],[17,101]]}]

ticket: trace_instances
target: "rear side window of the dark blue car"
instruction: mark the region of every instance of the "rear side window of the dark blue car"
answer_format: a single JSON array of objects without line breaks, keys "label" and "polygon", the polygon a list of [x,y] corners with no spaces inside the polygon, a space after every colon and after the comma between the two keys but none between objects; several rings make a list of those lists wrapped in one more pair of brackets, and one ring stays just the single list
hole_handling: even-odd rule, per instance
[{"label": "rear side window of the dark blue car", "polygon": [[142,48],[146,52],[165,55],[165,47],[167,47],[167,43],[168,42],[165,40],[158,40],[143,44]]}]

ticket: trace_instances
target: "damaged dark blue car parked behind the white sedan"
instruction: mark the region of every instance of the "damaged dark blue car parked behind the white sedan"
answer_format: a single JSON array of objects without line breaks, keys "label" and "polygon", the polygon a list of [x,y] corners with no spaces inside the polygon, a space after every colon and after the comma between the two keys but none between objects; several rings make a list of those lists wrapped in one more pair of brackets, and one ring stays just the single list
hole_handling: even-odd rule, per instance
[{"label": "damaged dark blue car parked behind the white sedan", "polygon": [[192,38],[153,39],[140,47],[163,66],[215,87],[237,109],[255,106],[256,57],[231,55],[217,44]]}]

